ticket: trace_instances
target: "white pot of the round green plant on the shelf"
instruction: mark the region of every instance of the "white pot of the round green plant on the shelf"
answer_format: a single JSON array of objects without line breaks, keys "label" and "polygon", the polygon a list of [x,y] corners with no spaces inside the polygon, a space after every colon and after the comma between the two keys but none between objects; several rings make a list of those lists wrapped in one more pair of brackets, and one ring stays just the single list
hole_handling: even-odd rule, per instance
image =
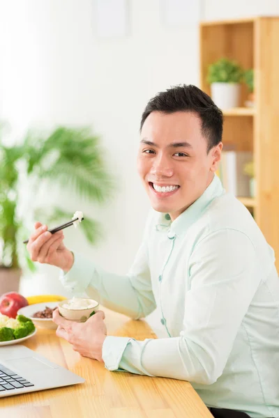
[{"label": "white pot of the round green plant on the shelf", "polygon": [[212,83],[211,98],[220,109],[238,107],[240,101],[240,84]]}]

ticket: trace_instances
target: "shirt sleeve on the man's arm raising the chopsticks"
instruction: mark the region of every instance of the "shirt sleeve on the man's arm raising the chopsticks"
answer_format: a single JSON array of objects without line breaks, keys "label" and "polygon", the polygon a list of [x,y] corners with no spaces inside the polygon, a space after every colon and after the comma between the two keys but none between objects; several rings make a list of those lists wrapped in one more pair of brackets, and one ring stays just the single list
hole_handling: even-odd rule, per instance
[{"label": "shirt sleeve on the man's arm raising the chopsticks", "polygon": [[151,287],[147,254],[147,233],[151,215],[144,231],[144,239],[137,251],[135,261],[126,275],[106,272],[81,254],[74,254],[73,267],[59,277],[70,293],[86,293],[103,306],[138,319],[156,309]]}]

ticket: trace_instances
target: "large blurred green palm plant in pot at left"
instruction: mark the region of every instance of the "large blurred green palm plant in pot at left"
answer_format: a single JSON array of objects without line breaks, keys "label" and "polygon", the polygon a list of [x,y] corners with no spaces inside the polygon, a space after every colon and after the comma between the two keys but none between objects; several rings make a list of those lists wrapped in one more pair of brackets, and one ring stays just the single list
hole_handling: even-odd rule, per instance
[{"label": "large blurred green palm plant in pot at left", "polygon": [[[22,144],[12,147],[4,145],[3,129],[0,133],[1,295],[18,291],[22,269],[34,270],[22,244],[29,233],[24,226],[27,214],[20,214],[22,178],[32,187],[34,196],[41,183],[50,182],[68,188],[75,196],[97,202],[111,195],[113,182],[105,168],[100,140],[89,130],[58,127],[46,137],[29,133]],[[39,211],[40,219],[46,224],[61,219],[65,222],[73,217],[73,212],[61,208]],[[96,242],[98,223],[86,216],[80,226],[87,240]]]}]

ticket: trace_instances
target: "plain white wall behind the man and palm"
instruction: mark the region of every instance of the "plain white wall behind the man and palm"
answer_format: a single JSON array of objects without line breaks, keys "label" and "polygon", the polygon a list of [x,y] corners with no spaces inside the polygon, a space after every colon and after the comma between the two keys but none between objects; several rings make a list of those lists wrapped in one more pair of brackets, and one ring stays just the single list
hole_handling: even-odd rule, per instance
[{"label": "plain white wall behind the man and palm", "polygon": [[[278,0],[204,0],[202,5],[205,20],[279,15]],[[31,126],[91,125],[103,137],[119,178],[114,201],[102,210],[52,193],[38,200],[59,199],[73,212],[99,219],[106,238],[97,248],[74,229],[66,231],[66,245],[118,273],[133,261],[149,208],[135,168],[142,110],[170,85],[199,82],[197,25],[166,27],[162,0],[130,0],[129,6],[130,35],[102,40],[93,27],[93,0],[0,2],[3,118],[16,133]],[[56,268],[39,271],[24,280],[24,293],[63,293]]]}]

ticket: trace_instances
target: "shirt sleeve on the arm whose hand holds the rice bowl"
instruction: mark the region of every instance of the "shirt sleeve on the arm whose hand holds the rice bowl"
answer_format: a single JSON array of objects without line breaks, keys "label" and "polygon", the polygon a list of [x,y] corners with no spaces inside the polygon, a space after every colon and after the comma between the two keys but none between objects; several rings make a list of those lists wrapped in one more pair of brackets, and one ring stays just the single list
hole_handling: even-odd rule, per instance
[{"label": "shirt sleeve on the arm whose hand holds the rice bowl", "polygon": [[224,229],[208,235],[190,256],[191,286],[180,335],[145,341],[107,337],[107,369],[216,382],[259,286],[256,265],[255,248],[245,234]]}]

